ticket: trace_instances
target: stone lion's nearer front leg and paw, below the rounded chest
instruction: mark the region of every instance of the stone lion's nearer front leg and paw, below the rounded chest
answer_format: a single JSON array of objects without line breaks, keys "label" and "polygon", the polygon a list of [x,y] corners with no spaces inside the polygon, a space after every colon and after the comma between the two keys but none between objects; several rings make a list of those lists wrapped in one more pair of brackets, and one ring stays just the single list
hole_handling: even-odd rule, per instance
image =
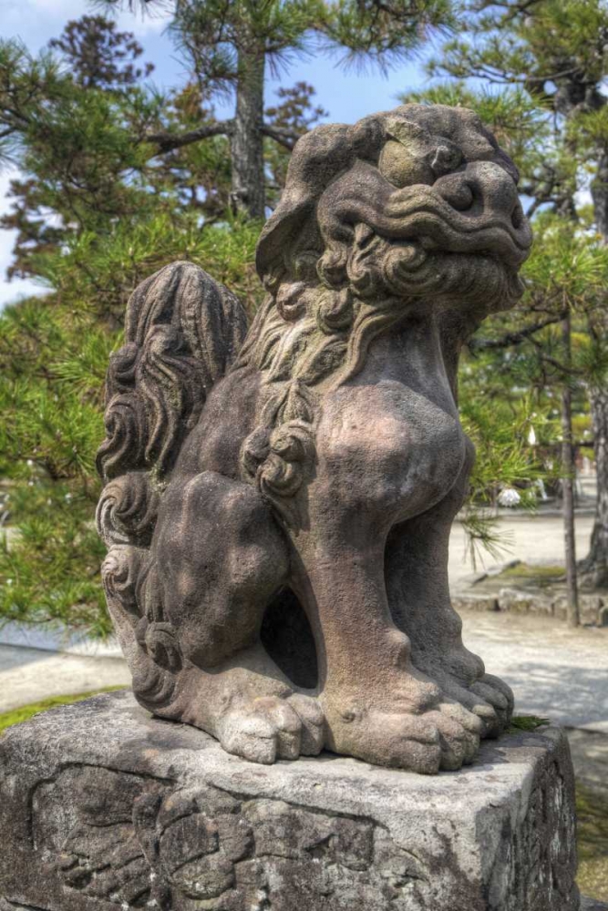
[{"label": "stone lion's nearer front leg and paw, below the rounded chest", "polygon": [[421,773],[471,762],[479,720],[417,670],[390,617],[386,532],[344,498],[311,514],[311,532],[294,537],[293,585],[317,644],[326,746]]}]

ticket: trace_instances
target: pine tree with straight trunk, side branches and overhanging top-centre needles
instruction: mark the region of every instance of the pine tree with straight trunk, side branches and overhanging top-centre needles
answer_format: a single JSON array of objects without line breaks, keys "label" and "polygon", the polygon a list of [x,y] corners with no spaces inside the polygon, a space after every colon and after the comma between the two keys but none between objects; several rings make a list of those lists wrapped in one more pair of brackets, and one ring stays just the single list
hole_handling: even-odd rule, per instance
[{"label": "pine tree with straight trunk, side branches and overhanging top-centre needles", "polygon": [[[106,0],[109,9],[147,10],[162,0]],[[170,32],[204,92],[232,92],[234,116],[178,133],[151,134],[161,152],[223,136],[231,149],[232,210],[265,212],[264,137],[288,151],[293,125],[264,118],[264,81],[313,47],[342,50],[351,60],[389,67],[407,58],[428,31],[451,21],[450,0],[175,0]],[[210,97],[211,97],[210,96]]]}]

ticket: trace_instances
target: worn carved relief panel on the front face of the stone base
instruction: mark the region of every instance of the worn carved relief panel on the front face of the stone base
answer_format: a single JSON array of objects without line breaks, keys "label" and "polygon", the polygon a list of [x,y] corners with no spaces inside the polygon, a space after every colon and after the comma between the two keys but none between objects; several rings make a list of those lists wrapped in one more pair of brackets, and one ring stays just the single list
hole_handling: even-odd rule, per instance
[{"label": "worn carved relief panel on the front face of the stone base", "polygon": [[367,896],[356,906],[406,911],[428,879],[366,818],[211,786],[75,765],[40,783],[32,808],[36,849],[64,889],[121,909],[346,911]]}]

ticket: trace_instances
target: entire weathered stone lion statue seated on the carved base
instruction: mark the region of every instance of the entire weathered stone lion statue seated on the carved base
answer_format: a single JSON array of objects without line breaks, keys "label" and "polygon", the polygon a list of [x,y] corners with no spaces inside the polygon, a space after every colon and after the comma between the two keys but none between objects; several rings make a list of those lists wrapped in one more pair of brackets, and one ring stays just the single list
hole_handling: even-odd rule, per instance
[{"label": "entire weathered stone lion statue seated on the carved base", "polygon": [[517,170],[469,110],[294,148],[249,330],[191,262],[144,281],[108,371],[108,607],[139,702],[257,763],[437,773],[509,723],[461,640],[448,537],[474,458],[459,349],[521,292]]}]

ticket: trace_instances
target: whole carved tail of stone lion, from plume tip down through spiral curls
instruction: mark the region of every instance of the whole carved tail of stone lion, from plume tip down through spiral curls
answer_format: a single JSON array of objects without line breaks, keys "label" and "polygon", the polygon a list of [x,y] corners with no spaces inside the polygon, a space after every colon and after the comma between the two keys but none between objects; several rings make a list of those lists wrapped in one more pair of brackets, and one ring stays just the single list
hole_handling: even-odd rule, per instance
[{"label": "whole carved tail of stone lion, from plume tip down through spiral curls", "polygon": [[138,648],[149,654],[149,681],[141,681],[138,695],[148,690],[150,703],[167,683],[158,664],[169,667],[173,660],[168,624],[146,603],[160,498],[181,445],[246,331],[242,306],[227,288],[191,262],[174,262],[131,295],[125,343],[110,359],[106,439],[97,461],[106,482],[98,532],[110,548],[102,575],[127,657]]}]

